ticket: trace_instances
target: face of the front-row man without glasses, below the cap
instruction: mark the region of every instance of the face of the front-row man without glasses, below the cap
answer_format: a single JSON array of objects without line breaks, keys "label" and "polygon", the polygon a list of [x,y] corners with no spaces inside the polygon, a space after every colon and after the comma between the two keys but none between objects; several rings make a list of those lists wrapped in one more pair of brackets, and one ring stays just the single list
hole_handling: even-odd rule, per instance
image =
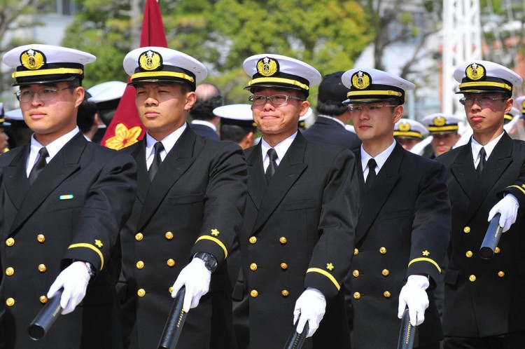
[{"label": "face of the front-row man without glasses, below the cap", "polygon": [[135,105],[151,137],[160,141],[186,122],[195,92],[182,92],[180,83],[139,83]]}]

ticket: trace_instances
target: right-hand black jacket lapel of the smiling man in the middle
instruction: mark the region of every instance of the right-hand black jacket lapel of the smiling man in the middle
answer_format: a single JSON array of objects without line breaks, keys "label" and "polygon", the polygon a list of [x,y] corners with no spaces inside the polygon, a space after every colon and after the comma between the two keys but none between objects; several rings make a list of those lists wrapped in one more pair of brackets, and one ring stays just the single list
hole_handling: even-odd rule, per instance
[{"label": "right-hand black jacket lapel of the smiling man in the middle", "polygon": [[[257,231],[258,228],[267,221],[272,212],[279,206],[284,196],[286,196],[291,186],[299,179],[302,172],[306,170],[307,164],[304,163],[306,144],[306,139],[302,137],[300,132],[297,132],[297,136],[290,145],[290,148],[288,148],[288,151],[286,151],[286,155],[281,160],[281,163],[279,163],[272,182],[270,182],[262,197],[253,231]],[[264,176],[262,180],[264,180]]]}]

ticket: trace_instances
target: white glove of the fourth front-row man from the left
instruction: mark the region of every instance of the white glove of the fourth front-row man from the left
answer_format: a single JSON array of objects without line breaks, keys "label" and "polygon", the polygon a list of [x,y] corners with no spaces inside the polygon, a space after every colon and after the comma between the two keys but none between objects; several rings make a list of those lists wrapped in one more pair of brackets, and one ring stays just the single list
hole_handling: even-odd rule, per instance
[{"label": "white glove of the fourth front-row man from the left", "polygon": [[419,326],[425,321],[425,310],[428,308],[428,295],[426,289],[430,285],[428,278],[423,275],[410,275],[407,283],[399,294],[398,317],[408,306],[408,315],[412,326]]}]

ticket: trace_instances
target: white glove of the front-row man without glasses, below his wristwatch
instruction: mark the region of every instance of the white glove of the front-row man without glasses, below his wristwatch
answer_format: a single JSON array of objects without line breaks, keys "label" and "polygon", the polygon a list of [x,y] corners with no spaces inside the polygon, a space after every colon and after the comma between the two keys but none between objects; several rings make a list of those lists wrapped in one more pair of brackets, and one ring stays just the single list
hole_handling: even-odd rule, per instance
[{"label": "white glove of the front-row man without glasses, below his wristwatch", "polygon": [[199,305],[200,297],[208,293],[210,280],[211,271],[204,266],[204,261],[200,258],[194,258],[190,261],[190,264],[183,268],[179,278],[175,280],[172,297],[175,298],[179,289],[186,285],[183,309],[188,313],[190,308],[195,308]]}]

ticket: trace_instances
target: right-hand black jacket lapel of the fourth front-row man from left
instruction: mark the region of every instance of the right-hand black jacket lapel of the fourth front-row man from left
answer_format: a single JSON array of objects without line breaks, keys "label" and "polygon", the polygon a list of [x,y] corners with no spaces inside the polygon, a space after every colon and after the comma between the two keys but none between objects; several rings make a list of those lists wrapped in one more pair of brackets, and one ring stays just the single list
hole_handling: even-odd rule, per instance
[{"label": "right-hand black jacket lapel of the fourth front-row man from left", "polygon": [[[383,167],[381,167],[381,170],[377,173],[377,177],[372,184],[370,192],[366,194],[356,228],[357,244],[369,231],[377,214],[381,211],[381,207],[383,207],[395,184],[398,182],[402,160],[405,155],[404,152],[405,150],[396,143],[392,153],[388,156]],[[360,177],[363,177],[363,170],[360,172]],[[366,193],[366,187],[363,191]]]}]

